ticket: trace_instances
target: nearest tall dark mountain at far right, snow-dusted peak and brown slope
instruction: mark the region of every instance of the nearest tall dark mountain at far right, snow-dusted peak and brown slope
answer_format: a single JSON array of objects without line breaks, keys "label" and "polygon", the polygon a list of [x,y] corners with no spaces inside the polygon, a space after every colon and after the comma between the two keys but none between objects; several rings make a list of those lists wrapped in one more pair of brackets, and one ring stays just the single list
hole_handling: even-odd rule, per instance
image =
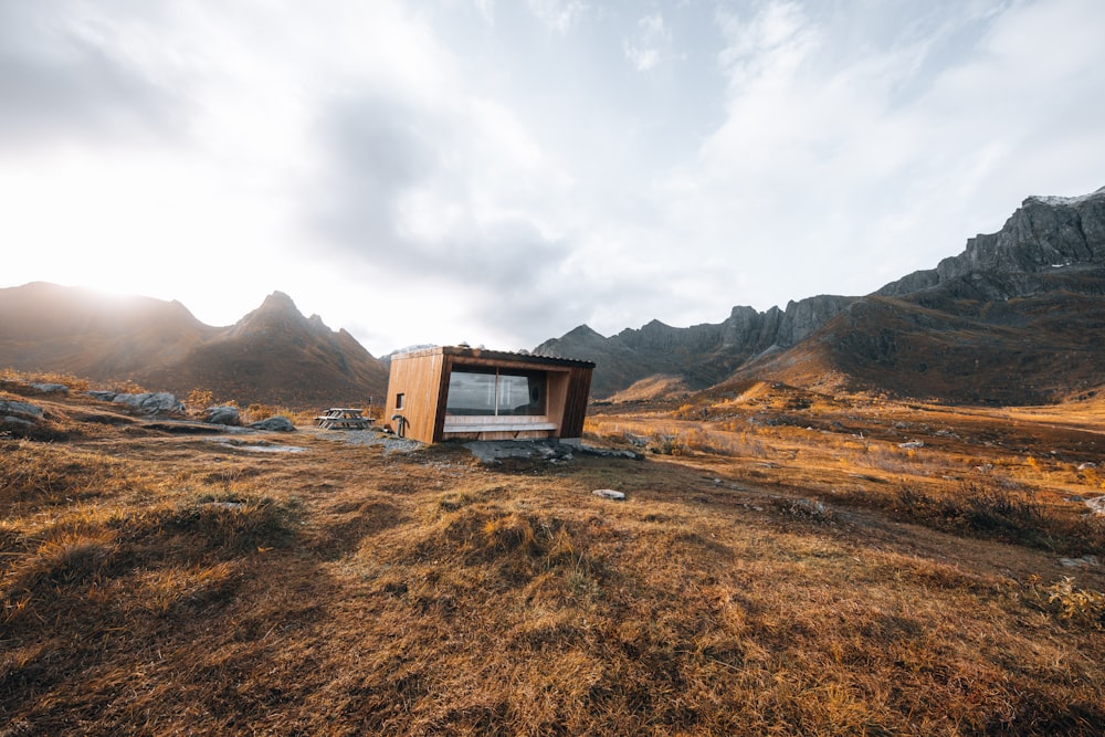
[{"label": "nearest tall dark mountain at far right, snow-dusted peak and brown slope", "polygon": [[751,376],[1002,404],[1105,387],[1105,188],[1024,200],[999,232],[733,379]]}]

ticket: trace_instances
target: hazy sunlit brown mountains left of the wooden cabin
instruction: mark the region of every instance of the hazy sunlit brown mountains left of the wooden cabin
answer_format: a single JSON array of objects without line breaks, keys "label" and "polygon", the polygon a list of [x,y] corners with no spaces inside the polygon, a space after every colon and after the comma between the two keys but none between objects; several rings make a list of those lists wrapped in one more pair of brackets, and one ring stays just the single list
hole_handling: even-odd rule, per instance
[{"label": "hazy sunlit brown mountains left of the wooden cabin", "polygon": [[364,403],[388,382],[351,335],[304,317],[281,292],[219,328],[177,302],[43,283],[0,289],[0,366],[294,407]]}]

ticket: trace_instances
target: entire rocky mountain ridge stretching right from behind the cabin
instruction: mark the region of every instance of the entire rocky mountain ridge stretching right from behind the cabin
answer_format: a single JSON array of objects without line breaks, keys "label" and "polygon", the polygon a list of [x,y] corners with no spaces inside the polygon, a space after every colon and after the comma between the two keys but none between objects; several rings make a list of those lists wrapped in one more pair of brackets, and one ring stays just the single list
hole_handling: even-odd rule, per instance
[{"label": "entire rocky mountain ridge stretching right from behind the cabin", "polygon": [[[955,401],[1054,401],[1105,385],[1105,188],[1030,197],[997,233],[866,297],[735,307],[717,325],[580,326],[535,352],[593,360],[593,393],[654,376],[766,378]],[[674,382],[672,382],[673,386]]]}]

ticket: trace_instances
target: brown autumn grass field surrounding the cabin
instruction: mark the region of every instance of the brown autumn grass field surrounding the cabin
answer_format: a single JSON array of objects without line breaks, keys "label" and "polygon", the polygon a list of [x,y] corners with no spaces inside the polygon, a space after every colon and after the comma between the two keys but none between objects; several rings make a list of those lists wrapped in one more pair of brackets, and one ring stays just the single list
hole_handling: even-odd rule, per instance
[{"label": "brown autumn grass field surrounding the cabin", "polygon": [[6,389],[4,737],[1103,734],[1101,402],[748,383],[482,465]]}]

